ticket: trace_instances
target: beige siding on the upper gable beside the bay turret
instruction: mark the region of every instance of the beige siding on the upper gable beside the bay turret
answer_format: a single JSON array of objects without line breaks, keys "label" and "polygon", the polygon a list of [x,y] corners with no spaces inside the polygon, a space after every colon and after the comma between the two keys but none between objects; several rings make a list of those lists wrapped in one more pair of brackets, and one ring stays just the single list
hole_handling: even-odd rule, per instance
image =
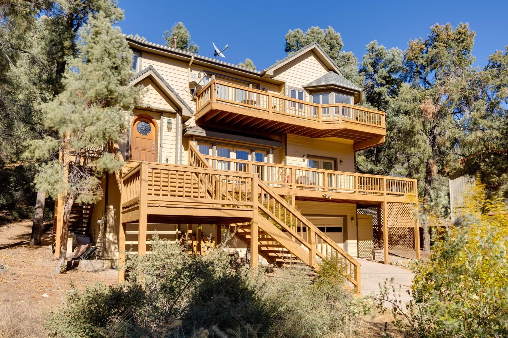
[{"label": "beige siding on the upper gable beside the bay turret", "polygon": [[[325,75],[329,69],[312,51],[308,51],[295,60],[275,70],[274,79],[285,81],[285,93],[289,96],[289,87],[302,88],[309,82]],[[305,100],[309,100],[306,94]]]}]

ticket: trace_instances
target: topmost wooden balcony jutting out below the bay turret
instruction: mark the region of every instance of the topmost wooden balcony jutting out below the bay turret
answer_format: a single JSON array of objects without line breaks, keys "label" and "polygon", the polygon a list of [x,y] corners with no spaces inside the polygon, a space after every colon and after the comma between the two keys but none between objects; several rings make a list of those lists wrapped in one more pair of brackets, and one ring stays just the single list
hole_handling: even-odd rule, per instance
[{"label": "topmost wooden balcony jutting out below the bay turret", "polygon": [[212,81],[196,99],[196,123],[283,136],[353,140],[355,150],[384,142],[385,113],[346,104],[319,105]]}]

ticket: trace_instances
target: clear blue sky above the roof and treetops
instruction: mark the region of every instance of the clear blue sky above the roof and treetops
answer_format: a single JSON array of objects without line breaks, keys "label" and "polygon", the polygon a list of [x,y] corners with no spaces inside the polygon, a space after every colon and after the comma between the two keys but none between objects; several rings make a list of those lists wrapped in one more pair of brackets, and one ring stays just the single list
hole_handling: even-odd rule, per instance
[{"label": "clear blue sky above the roof and treetops", "polygon": [[125,10],[122,31],[138,33],[164,44],[163,32],[182,21],[199,54],[213,56],[229,44],[226,62],[246,57],[262,70],[283,58],[289,29],[328,25],[340,32],[345,51],[361,60],[365,45],[377,40],[388,48],[406,49],[409,39],[426,37],[434,23],[456,26],[468,22],[477,32],[473,55],[476,66],[486,64],[496,49],[508,45],[508,1],[155,1],[119,0]]}]

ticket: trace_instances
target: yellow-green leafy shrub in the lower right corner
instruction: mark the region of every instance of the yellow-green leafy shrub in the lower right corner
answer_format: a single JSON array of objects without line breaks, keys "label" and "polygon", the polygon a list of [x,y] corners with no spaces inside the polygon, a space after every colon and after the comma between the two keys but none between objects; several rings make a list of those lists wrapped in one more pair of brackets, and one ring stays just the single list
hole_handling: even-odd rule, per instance
[{"label": "yellow-green leafy shrub in the lower right corner", "polygon": [[410,334],[508,336],[506,204],[475,198],[464,225],[436,238],[430,262],[414,267],[414,300],[403,309],[393,283],[376,297],[378,307],[392,303],[394,323]]}]

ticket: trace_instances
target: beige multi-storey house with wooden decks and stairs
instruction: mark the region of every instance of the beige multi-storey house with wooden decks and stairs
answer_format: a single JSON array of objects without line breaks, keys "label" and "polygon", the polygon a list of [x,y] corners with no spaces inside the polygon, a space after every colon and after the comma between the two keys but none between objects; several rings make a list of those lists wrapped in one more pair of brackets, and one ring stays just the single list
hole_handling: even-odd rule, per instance
[{"label": "beige multi-storey house with wooden decks and stairs", "polygon": [[104,266],[149,252],[155,231],[195,234],[198,246],[234,232],[241,253],[259,253],[253,266],[336,257],[357,288],[356,258],[372,249],[386,262],[393,248],[419,257],[416,180],[355,172],[355,152],[385,141],[385,113],[356,106],[362,90],[318,44],[255,71],[125,39],[131,84],[144,86],[115,146],[126,164],[103,179],[102,201],[75,206],[70,227]]}]

